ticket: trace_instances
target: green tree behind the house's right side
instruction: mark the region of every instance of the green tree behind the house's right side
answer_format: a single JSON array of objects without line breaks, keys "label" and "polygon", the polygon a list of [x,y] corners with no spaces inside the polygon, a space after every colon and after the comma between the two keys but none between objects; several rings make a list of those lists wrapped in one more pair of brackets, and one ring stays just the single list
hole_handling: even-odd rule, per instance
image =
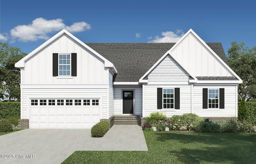
[{"label": "green tree behind the house's right side", "polygon": [[256,46],[249,49],[243,42],[231,43],[228,49],[228,64],[243,80],[238,86],[238,100],[256,99]]}]

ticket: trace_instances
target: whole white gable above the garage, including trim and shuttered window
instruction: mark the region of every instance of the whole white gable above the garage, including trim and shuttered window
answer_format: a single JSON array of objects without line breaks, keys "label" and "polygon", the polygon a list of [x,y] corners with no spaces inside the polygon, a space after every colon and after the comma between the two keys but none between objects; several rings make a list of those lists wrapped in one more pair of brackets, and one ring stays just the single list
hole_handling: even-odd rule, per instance
[{"label": "whole white gable above the garage, including trim and shuttered window", "polygon": [[21,68],[21,84],[108,84],[108,68],[116,72],[111,64],[62,30],[15,66]]}]

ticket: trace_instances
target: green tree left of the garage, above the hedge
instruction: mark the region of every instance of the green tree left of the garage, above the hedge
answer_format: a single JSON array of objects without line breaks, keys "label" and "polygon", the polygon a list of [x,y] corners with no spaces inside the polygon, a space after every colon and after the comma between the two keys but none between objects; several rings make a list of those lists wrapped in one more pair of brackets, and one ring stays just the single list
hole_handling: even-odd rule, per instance
[{"label": "green tree left of the garage, above the hedge", "polygon": [[9,102],[20,99],[20,69],[14,64],[26,55],[20,48],[0,43],[0,98]]}]

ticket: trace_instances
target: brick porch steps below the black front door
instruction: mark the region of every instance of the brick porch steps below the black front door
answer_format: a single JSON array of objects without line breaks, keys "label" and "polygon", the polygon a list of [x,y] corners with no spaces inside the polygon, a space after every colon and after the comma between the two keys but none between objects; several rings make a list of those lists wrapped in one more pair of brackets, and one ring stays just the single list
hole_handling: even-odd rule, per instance
[{"label": "brick porch steps below the black front door", "polygon": [[114,124],[141,124],[140,115],[115,115],[114,117]]}]

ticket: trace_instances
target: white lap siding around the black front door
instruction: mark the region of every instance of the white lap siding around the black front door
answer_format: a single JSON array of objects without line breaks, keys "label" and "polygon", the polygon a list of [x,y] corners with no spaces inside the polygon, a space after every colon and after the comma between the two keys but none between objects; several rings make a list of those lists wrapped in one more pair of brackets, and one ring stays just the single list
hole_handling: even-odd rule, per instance
[{"label": "white lap siding around the black front door", "polygon": [[114,115],[123,113],[122,90],[134,90],[134,115],[142,115],[142,88],[114,88]]}]

